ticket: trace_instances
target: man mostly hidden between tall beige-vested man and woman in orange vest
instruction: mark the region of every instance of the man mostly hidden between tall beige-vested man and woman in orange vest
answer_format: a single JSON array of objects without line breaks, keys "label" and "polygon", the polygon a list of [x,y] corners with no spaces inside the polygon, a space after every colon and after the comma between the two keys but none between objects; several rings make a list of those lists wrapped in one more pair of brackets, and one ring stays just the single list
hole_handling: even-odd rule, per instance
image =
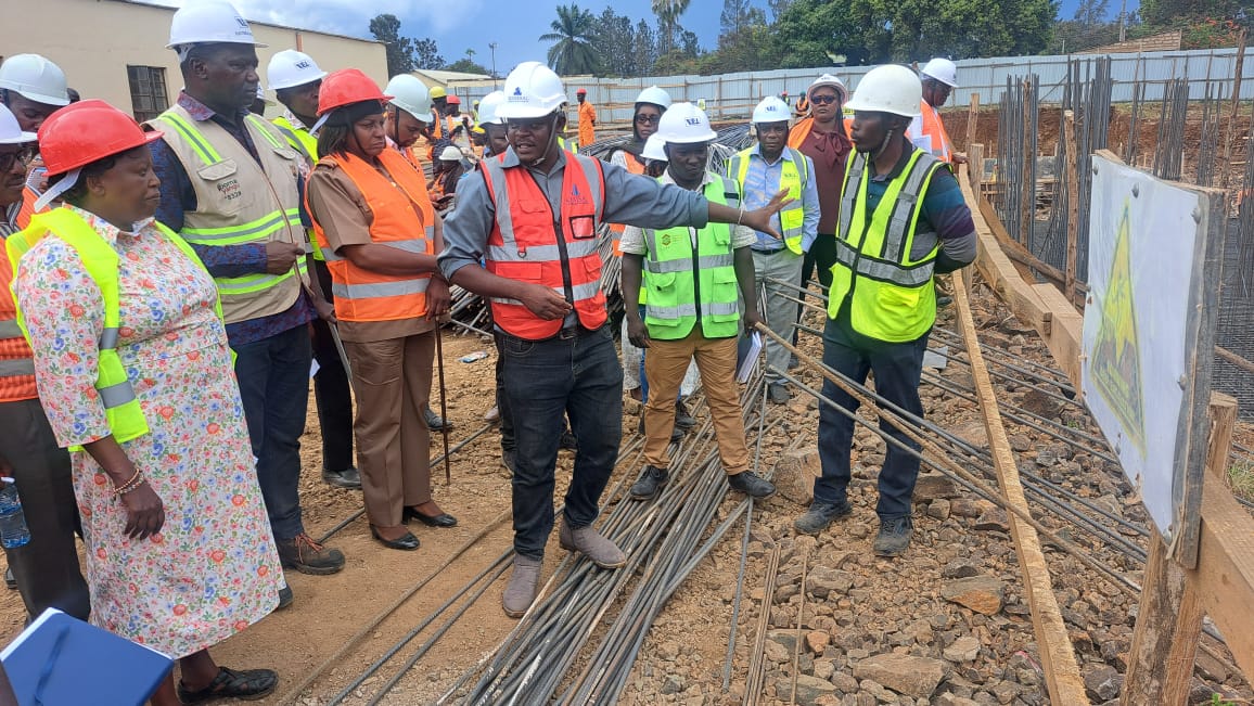
[{"label": "man mostly hidden between tall beige-vested man and woman in orange vest", "polygon": [[[275,118],[273,123],[287,144],[300,153],[302,177],[308,177],[317,164],[317,138],[310,133],[310,128],[317,122],[317,97],[324,78],[326,71],[317,61],[295,49],[277,51],[266,65],[266,82],[283,105],[282,115]],[[310,238],[310,243],[314,252],[310,253],[308,265],[314,268],[314,277],[322,292],[330,292],[331,272],[326,267],[326,257],[314,238]],[[357,489],[361,488],[361,475],[352,458],[352,391],[349,387],[349,374],[340,360],[331,324],[316,319],[312,327],[314,360],[319,366],[314,375],[314,401],[322,431],[322,482],[335,488]]]}]

